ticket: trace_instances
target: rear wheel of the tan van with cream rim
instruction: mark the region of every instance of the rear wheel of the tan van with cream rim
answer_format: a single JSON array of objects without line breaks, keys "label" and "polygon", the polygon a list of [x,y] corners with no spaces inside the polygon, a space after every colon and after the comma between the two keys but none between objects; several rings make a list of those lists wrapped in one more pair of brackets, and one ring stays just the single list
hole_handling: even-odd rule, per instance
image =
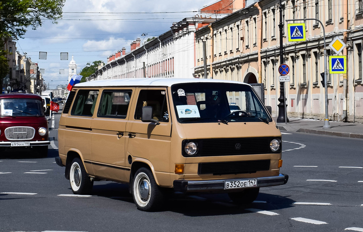
[{"label": "rear wheel of the tan van with cream rim", "polygon": [[82,160],[74,158],[69,169],[70,187],[74,194],[89,194],[93,187],[93,181],[86,173]]}]

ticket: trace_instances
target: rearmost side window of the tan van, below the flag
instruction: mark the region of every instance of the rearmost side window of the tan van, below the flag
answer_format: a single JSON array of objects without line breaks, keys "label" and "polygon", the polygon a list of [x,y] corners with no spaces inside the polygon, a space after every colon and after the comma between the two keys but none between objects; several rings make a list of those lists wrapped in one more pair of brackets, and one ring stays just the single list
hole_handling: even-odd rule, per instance
[{"label": "rearmost side window of the tan van, below the flag", "polygon": [[74,100],[71,115],[93,116],[96,105],[98,91],[78,90],[76,100]]}]

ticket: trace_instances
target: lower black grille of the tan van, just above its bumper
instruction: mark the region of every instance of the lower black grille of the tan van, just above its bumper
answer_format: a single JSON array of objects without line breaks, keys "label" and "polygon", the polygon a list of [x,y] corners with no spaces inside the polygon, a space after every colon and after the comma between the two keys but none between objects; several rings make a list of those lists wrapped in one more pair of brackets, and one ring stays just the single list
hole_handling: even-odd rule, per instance
[{"label": "lower black grille of the tan van, just above its bumper", "polygon": [[256,171],[266,171],[269,169],[270,159],[198,164],[198,174],[227,175],[256,173]]}]

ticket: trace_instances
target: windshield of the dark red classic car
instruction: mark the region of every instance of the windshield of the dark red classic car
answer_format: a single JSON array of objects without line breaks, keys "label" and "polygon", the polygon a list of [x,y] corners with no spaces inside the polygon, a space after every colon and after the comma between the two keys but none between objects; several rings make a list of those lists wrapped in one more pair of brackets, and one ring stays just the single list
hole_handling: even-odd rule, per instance
[{"label": "windshield of the dark red classic car", "polygon": [[43,116],[42,102],[37,99],[1,99],[0,116]]}]

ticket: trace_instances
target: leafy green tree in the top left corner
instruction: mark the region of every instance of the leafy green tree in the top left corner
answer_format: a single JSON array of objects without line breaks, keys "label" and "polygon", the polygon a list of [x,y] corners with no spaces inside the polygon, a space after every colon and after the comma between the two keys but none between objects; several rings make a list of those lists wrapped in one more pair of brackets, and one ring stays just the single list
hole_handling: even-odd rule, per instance
[{"label": "leafy green tree in the top left corner", "polygon": [[65,0],[1,0],[0,1],[0,90],[2,79],[9,73],[8,51],[4,50],[8,38],[22,38],[31,27],[36,30],[45,20],[57,23],[62,17]]}]

